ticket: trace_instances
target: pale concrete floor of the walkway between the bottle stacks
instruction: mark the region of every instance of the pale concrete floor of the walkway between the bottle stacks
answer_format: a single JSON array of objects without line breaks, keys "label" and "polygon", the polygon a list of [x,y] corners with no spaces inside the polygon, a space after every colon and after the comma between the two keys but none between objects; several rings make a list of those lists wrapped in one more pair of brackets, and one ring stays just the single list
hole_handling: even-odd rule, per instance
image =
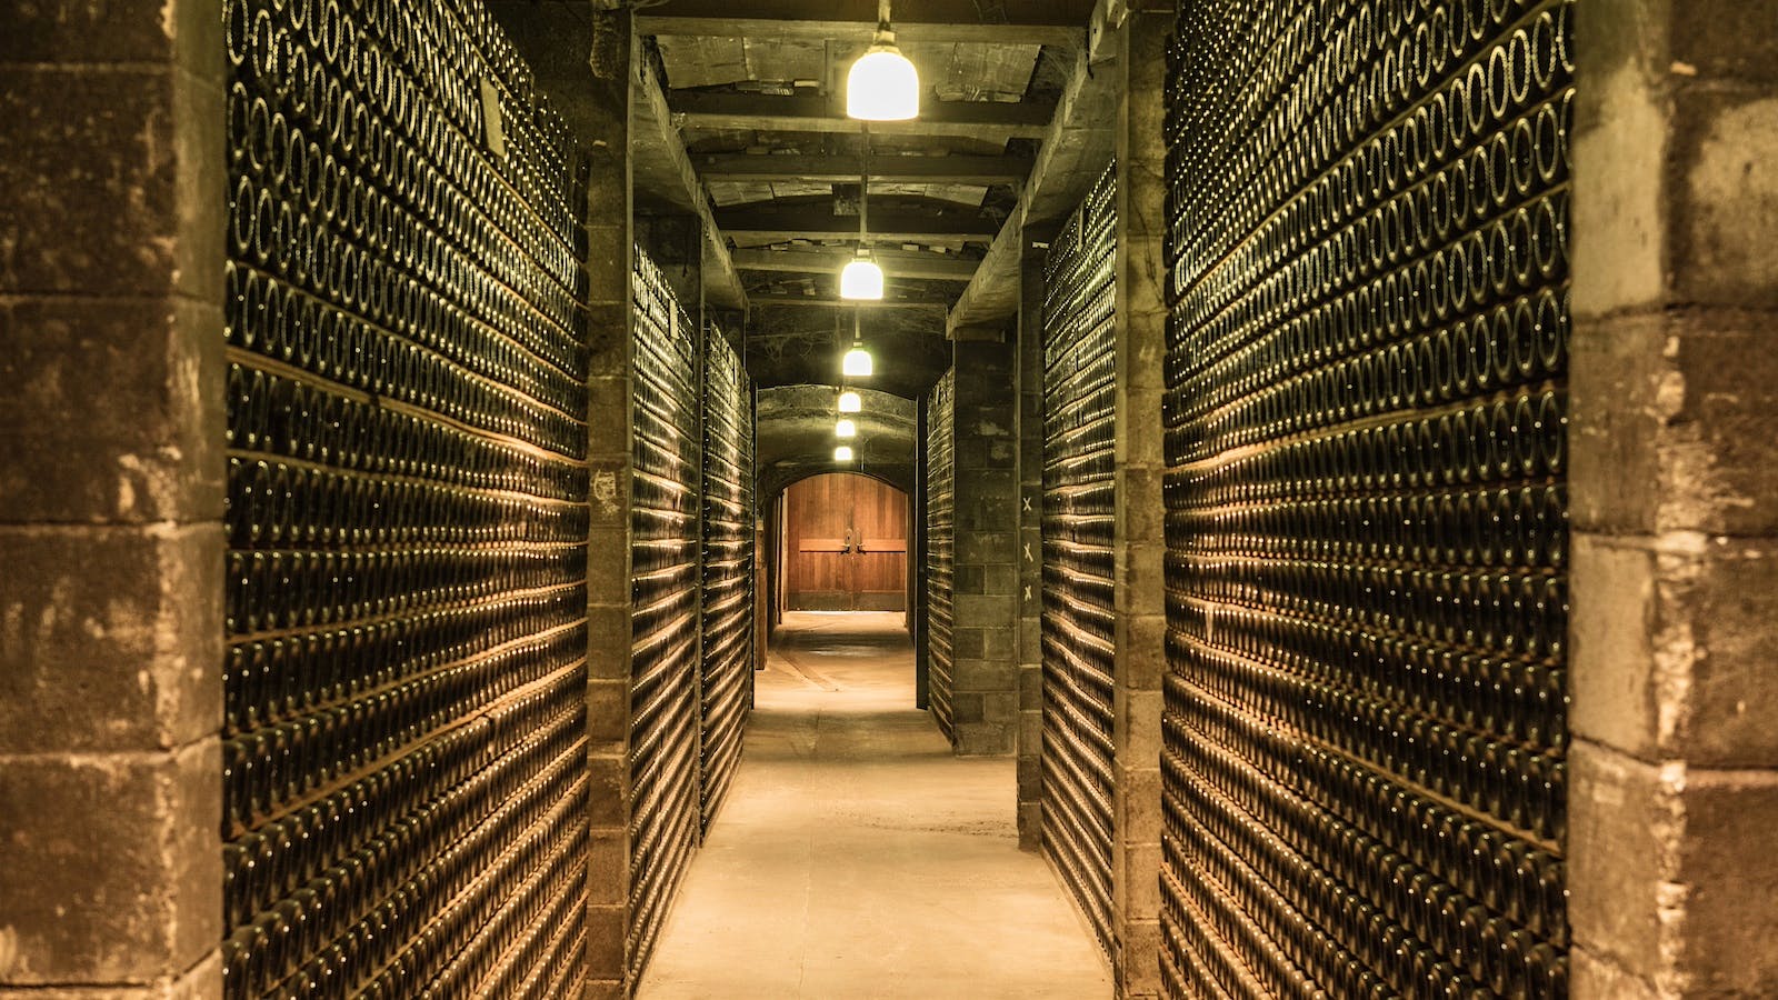
[{"label": "pale concrete floor of the walkway between the bottle stacks", "polygon": [[791,614],[727,806],[638,996],[1111,996],[1013,762],[951,756],[914,708],[900,614]]}]

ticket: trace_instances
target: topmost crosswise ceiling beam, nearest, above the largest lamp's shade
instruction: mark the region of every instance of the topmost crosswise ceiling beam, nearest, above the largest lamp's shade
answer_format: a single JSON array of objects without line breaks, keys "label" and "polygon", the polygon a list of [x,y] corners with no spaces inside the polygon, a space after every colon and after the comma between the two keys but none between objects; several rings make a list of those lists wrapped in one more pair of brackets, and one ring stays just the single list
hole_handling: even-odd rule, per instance
[{"label": "topmost crosswise ceiling beam, nearest, above the largest lamp's shade", "polygon": [[[660,12],[638,14],[637,30],[645,36],[685,36],[685,37],[757,37],[772,41],[850,41],[869,44],[877,34],[877,20],[843,21],[818,18],[733,18],[722,12],[715,16],[683,16],[676,7],[686,4],[669,4]],[[695,5],[692,5],[695,7]],[[823,5],[821,14],[832,16],[834,7]],[[948,11],[955,14],[955,11]],[[900,44],[1051,44],[1081,46],[1086,43],[1086,25],[967,25],[910,21],[896,16],[894,36]]]}]

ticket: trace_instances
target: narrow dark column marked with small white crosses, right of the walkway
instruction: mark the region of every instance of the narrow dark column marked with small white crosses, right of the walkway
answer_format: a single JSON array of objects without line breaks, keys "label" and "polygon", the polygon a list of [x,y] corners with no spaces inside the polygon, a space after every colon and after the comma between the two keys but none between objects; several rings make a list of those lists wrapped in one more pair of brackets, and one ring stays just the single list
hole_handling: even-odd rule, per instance
[{"label": "narrow dark column marked with small white crosses, right of the walkway", "polygon": [[1019,260],[1019,847],[1044,847],[1044,251]]}]

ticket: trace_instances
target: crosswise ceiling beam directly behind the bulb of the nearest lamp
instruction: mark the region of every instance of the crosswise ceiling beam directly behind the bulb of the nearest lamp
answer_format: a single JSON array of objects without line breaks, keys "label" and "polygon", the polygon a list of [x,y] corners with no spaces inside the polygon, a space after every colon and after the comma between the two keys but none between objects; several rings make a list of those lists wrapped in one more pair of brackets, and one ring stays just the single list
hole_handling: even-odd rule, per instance
[{"label": "crosswise ceiling beam directly behind the bulb of the nearest lamp", "polygon": [[[674,121],[685,128],[750,132],[821,132],[857,135],[862,121],[846,117],[827,96],[772,96],[674,91]],[[1049,101],[923,101],[914,121],[873,121],[873,135],[937,135],[953,139],[1042,139],[1056,109]]]}]

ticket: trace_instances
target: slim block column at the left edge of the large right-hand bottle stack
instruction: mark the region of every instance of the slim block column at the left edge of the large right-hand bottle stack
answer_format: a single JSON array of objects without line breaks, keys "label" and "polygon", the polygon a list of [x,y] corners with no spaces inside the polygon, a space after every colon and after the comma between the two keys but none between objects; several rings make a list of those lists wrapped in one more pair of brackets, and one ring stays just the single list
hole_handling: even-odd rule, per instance
[{"label": "slim block column at the left edge of the large right-hand bottle stack", "polygon": [[1166,37],[1172,11],[1133,11],[1118,39],[1117,496],[1113,527],[1111,911],[1118,996],[1159,996],[1161,678],[1166,674],[1161,427],[1166,358]]}]

